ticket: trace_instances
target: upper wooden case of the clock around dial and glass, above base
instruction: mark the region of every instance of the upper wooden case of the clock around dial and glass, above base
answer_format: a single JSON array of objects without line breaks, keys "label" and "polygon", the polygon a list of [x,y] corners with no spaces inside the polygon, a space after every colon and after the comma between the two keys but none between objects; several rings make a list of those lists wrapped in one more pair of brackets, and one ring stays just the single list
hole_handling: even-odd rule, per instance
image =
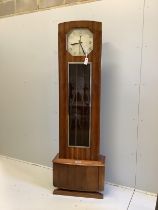
[{"label": "upper wooden case of the clock around dial and glass, above base", "polygon": [[[94,46],[88,55],[92,62],[90,147],[68,147],[68,62],[84,62],[85,56],[72,56],[66,50],[66,34],[72,28],[88,28]],[[100,77],[102,24],[95,21],[70,21],[59,24],[59,157],[98,160],[100,147]]]}]

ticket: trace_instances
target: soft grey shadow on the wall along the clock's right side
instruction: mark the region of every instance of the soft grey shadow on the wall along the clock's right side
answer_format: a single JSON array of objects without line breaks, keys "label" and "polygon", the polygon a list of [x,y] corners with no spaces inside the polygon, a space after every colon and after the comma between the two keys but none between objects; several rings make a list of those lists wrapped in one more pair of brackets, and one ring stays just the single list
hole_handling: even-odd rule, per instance
[{"label": "soft grey shadow on the wall along the clock's right side", "polygon": [[[107,155],[113,151],[112,139],[116,139],[114,128],[117,126],[117,106],[118,106],[118,61],[119,52],[110,43],[102,45],[102,69],[101,69],[101,153]],[[113,154],[114,156],[115,154]],[[108,157],[107,157],[108,159]],[[113,158],[115,160],[115,158]],[[109,161],[107,161],[107,168]],[[113,166],[115,162],[112,163]],[[109,177],[110,174],[106,176]]]}]

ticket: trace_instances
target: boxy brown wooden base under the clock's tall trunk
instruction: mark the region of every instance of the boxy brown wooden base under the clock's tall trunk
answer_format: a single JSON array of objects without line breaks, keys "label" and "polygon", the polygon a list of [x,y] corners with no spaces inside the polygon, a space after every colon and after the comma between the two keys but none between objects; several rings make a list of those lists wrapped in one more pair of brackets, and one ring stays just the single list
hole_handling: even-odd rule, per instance
[{"label": "boxy brown wooden base under the clock's tall trunk", "polygon": [[84,196],[89,193],[101,198],[99,192],[104,190],[104,177],[105,156],[100,155],[99,160],[92,161],[59,158],[57,155],[53,160],[53,185],[60,189],[55,191],[58,194],[69,192]]}]

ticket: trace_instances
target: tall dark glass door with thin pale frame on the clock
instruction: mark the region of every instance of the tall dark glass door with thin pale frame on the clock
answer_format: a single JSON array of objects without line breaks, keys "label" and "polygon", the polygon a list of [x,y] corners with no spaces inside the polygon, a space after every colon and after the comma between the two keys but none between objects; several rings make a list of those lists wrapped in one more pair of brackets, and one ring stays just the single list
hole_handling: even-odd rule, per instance
[{"label": "tall dark glass door with thin pale frame on the clock", "polygon": [[69,147],[90,147],[91,136],[91,63],[68,64]]}]

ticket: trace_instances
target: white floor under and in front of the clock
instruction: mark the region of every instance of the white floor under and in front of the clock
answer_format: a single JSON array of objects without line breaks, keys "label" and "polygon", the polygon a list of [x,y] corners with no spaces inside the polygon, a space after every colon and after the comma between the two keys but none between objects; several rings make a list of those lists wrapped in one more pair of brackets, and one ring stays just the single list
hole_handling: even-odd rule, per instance
[{"label": "white floor under and in front of the clock", "polygon": [[101,200],[53,195],[53,190],[51,168],[0,156],[0,210],[155,210],[157,199],[108,183]]}]

